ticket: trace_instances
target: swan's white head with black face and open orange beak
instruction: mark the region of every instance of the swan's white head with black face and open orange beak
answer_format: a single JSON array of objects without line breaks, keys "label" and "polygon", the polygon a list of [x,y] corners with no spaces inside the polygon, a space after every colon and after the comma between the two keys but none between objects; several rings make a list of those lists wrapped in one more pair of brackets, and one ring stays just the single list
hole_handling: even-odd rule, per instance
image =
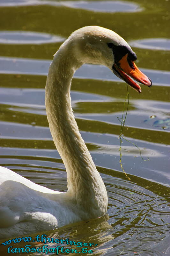
[{"label": "swan's white head with black face and open orange beak", "polygon": [[[88,26],[74,31],[68,38],[75,58],[81,64],[101,64],[141,93],[141,87],[133,80],[149,87],[151,80],[134,63],[135,52],[118,34],[107,28]],[[132,78],[133,79],[132,79]]]}]

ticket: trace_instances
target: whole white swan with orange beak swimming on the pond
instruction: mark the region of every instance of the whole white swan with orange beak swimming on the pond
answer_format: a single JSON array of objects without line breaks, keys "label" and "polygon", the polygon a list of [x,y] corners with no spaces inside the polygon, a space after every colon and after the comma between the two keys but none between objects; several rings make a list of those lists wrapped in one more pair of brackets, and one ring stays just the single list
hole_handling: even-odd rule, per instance
[{"label": "whole white swan with orange beak swimming on the pond", "polygon": [[98,26],[74,31],[60,46],[49,67],[45,105],[55,146],[66,167],[68,190],[45,188],[0,167],[0,238],[51,230],[107,212],[104,182],[71,108],[71,80],[84,63],[101,64],[141,93],[132,78],[149,87],[152,82],[137,68],[136,59],[121,36]]}]

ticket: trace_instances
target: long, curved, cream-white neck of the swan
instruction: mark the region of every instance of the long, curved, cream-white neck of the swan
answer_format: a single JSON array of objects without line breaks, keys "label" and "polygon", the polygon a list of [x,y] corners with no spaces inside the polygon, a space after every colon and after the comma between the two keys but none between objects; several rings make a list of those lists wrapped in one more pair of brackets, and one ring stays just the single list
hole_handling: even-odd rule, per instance
[{"label": "long, curved, cream-white neck of the swan", "polygon": [[[70,86],[82,63],[62,47],[52,61],[46,83],[46,111],[55,146],[67,171],[68,195],[86,207],[107,205],[104,183],[82,139],[71,108]],[[105,204],[105,206],[101,206]],[[106,210],[106,209],[105,209]]]}]

